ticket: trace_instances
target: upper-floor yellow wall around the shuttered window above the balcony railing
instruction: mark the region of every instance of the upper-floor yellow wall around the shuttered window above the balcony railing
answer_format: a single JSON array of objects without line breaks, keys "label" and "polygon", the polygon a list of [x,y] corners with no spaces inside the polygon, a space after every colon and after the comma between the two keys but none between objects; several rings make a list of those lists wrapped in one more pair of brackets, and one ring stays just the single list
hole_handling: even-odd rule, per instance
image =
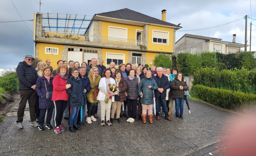
[{"label": "upper-floor yellow wall around the shuttered window above the balcony railing", "polygon": [[143,30],[142,26],[101,21],[101,36],[109,36],[109,26],[127,28],[127,39],[134,40],[136,40],[136,29]]}]

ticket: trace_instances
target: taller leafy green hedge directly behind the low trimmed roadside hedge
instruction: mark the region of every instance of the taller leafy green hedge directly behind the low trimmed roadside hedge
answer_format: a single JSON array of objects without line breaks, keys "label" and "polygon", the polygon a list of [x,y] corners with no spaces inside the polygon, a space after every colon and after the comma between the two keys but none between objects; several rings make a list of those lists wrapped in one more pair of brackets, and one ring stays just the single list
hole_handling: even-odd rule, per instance
[{"label": "taller leafy green hedge directly behind the low trimmed roadside hedge", "polygon": [[[255,71],[233,69],[218,71],[215,68],[200,68],[194,72],[193,85],[221,88],[244,93],[256,93]],[[250,74],[250,76],[249,76]]]}]

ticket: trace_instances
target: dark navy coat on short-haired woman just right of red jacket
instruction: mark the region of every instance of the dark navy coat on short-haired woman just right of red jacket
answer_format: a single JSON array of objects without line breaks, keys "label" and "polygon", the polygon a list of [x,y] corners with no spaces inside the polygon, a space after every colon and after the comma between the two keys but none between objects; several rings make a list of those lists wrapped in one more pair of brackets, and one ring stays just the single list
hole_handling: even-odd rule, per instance
[{"label": "dark navy coat on short-haired woman just right of red jacket", "polygon": [[68,93],[68,103],[70,107],[77,107],[84,105],[85,93],[82,81],[77,81],[73,76],[68,79],[68,84],[71,84],[71,87],[66,89]]}]

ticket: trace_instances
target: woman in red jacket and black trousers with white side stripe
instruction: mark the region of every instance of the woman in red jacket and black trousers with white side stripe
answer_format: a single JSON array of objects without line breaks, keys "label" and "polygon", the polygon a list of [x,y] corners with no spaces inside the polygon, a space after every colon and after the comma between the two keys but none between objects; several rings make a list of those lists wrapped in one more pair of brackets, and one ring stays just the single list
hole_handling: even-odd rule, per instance
[{"label": "woman in red jacket and black trousers with white side stripe", "polygon": [[53,84],[53,93],[51,100],[55,106],[55,116],[54,116],[54,123],[55,123],[55,130],[54,132],[60,134],[61,132],[65,131],[65,128],[61,126],[63,113],[68,101],[68,94],[66,89],[70,88],[71,85],[67,84],[68,82],[68,73],[69,69],[67,66],[59,66],[56,70],[57,75],[54,77],[52,84]]}]

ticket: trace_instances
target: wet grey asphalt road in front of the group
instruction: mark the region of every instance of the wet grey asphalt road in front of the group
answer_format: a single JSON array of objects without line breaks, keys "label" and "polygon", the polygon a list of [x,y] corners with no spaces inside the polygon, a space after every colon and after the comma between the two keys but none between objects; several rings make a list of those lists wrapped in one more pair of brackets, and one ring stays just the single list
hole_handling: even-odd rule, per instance
[{"label": "wet grey asphalt road in front of the group", "polygon": [[[209,152],[216,155],[216,149],[222,152],[227,133],[242,115],[203,102],[189,100],[189,103],[191,114],[184,103],[183,120],[172,114],[172,121],[163,117],[156,121],[154,116],[154,124],[149,124],[148,118],[143,124],[138,119],[128,123],[123,117],[119,124],[100,126],[97,119],[92,124],[85,123],[81,131],[67,130],[62,134],[30,126],[29,111],[25,111],[24,128],[17,129],[17,112],[8,113],[0,123],[0,155],[197,156]],[[174,106],[172,109],[175,113]],[[100,105],[98,114],[100,118]],[[54,125],[53,121],[51,124]],[[62,126],[68,129],[68,121],[63,120]]]}]

